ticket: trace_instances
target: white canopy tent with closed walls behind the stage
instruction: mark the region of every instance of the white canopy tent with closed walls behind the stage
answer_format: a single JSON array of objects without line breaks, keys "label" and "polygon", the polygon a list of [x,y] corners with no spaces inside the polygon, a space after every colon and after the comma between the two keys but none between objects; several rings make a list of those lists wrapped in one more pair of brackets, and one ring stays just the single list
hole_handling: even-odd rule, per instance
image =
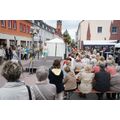
[{"label": "white canopy tent with closed walls behind the stage", "polygon": [[62,57],[65,54],[65,43],[63,39],[54,38],[46,41],[48,47],[48,56]]}]

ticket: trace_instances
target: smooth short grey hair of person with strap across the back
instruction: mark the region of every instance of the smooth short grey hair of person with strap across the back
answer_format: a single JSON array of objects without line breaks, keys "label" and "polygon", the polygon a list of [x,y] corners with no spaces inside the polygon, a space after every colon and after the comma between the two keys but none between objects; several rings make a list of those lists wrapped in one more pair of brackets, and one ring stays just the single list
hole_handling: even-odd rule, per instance
[{"label": "smooth short grey hair of person with strap across the back", "polygon": [[45,66],[41,66],[36,71],[36,77],[38,81],[44,81],[48,78],[48,69]]}]

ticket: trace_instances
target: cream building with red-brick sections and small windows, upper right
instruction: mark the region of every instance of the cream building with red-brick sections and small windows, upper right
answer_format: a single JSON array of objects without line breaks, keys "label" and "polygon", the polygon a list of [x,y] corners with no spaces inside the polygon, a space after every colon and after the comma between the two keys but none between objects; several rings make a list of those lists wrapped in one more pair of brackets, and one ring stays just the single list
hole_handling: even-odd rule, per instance
[{"label": "cream building with red-brick sections and small windows, upper right", "polygon": [[76,39],[120,40],[120,20],[83,20],[79,23]]}]

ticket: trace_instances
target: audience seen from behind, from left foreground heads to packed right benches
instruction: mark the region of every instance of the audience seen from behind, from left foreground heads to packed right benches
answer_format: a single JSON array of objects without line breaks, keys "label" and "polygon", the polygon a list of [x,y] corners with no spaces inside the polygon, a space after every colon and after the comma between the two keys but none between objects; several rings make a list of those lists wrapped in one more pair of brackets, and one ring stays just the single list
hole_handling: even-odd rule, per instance
[{"label": "audience seen from behind, from left foreground heads to packed right benches", "polygon": [[86,98],[94,90],[101,100],[104,94],[107,99],[116,99],[120,92],[120,66],[112,55],[105,58],[96,50],[71,53],[65,60],[54,60],[49,69],[41,66],[34,86],[19,80],[21,72],[16,62],[5,64],[2,75],[8,82],[0,88],[0,99],[63,100],[68,92],[77,90]]}]

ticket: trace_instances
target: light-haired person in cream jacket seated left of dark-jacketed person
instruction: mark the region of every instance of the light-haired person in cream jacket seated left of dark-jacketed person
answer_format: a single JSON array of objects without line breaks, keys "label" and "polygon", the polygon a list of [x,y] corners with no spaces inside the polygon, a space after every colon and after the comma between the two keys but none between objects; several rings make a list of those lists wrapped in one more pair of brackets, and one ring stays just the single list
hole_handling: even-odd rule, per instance
[{"label": "light-haired person in cream jacket seated left of dark-jacketed person", "polygon": [[90,93],[92,91],[92,81],[94,73],[91,73],[92,69],[90,65],[84,67],[84,71],[81,73],[81,84],[79,90],[83,94]]}]

